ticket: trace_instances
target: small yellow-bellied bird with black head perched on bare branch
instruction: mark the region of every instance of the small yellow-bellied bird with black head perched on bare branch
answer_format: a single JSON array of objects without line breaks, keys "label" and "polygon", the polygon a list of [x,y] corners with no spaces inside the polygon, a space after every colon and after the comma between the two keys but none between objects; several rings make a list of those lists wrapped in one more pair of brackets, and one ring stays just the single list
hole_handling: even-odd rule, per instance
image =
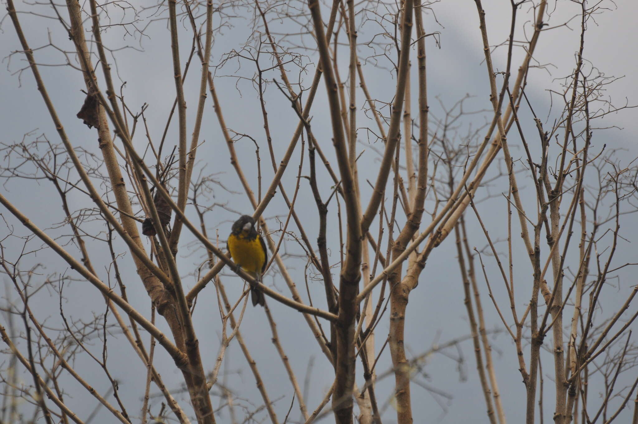
[{"label": "small yellow-bellied bird with black head perched on bare branch", "polygon": [[[262,282],[262,275],[268,262],[268,251],[262,236],[255,229],[255,220],[250,215],[242,215],[232,226],[226,248],[237,266]],[[263,292],[250,287],[253,307],[266,303]]]}]

